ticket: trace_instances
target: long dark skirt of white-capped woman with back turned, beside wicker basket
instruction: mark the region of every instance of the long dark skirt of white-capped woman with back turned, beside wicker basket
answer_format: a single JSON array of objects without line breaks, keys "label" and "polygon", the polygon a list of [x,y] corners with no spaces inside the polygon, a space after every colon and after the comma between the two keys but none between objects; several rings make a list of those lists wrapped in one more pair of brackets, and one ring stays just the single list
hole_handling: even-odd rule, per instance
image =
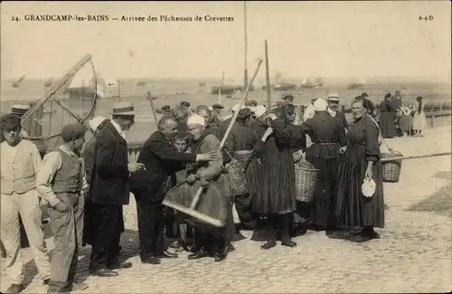
[{"label": "long dark skirt of white-capped woman with back turned, beside wicker basket", "polygon": [[319,170],[315,186],[311,222],[318,226],[334,223],[335,195],[334,185],[337,177],[337,159],[309,158],[309,161]]}]

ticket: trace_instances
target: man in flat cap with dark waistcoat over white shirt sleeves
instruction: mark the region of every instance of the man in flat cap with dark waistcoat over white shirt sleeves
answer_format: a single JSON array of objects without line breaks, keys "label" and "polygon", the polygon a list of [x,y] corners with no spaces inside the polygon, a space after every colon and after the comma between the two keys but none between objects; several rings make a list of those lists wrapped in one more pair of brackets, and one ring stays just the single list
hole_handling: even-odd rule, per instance
[{"label": "man in flat cap with dark waistcoat over white shirt sleeves", "polygon": [[79,254],[77,222],[80,219],[81,197],[88,192],[82,161],[77,155],[85,143],[85,127],[71,123],[61,130],[63,144],[44,156],[36,176],[36,189],[49,204],[49,226],[55,249],[52,251],[51,280],[48,293],[88,288],[77,283],[75,272]]}]

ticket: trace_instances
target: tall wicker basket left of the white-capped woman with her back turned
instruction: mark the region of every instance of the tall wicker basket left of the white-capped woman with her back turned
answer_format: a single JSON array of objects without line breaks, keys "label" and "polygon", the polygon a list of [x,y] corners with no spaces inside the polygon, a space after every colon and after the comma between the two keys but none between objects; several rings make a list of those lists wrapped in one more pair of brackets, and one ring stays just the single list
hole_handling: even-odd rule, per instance
[{"label": "tall wicker basket left of the white-capped woman with her back turned", "polygon": [[297,200],[301,202],[312,202],[315,185],[317,184],[318,169],[301,159],[295,165],[295,178],[297,188]]}]

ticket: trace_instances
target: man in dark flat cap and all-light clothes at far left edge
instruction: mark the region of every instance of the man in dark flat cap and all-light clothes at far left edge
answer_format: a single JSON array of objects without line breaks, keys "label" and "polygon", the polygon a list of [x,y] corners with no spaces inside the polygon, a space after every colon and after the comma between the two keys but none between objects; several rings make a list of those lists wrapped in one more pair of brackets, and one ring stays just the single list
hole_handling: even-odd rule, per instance
[{"label": "man in dark flat cap and all-light clothes at far left edge", "polygon": [[6,293],[19,293],[24,289],[19,216],[42,280],[48,283],[51,277],[51,264],[41,227],[42,210],[35,189],[36,174],[42,165],[41,155],[32,142],[20,137],[21,129],[19,116],[9,113],[0,118],[0,131],[5,138],[0,144],[0,240],[6,252],[5,273],[13,282]]}]

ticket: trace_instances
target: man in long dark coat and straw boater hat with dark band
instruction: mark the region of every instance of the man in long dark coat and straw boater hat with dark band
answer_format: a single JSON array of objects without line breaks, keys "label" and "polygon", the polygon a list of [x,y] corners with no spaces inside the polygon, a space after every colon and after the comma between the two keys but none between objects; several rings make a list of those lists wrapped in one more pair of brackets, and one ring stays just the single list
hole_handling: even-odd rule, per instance
[{"label": "man in long dark coat and straw boater hat with dark band", "polygon": [[142,164],[128,164],[124,130],[134,124],[134,107],[129,102],[115,105],[113,118],[96,138],[95,162],[91,170],[89,194],[96,234],[92,240],[89,273],[100,277],[118,276],[114,269],[129,268],[130,262],[116,259],[121,232],[124,232],[122,205],[129,202],[129,173],[140,170]]}]

